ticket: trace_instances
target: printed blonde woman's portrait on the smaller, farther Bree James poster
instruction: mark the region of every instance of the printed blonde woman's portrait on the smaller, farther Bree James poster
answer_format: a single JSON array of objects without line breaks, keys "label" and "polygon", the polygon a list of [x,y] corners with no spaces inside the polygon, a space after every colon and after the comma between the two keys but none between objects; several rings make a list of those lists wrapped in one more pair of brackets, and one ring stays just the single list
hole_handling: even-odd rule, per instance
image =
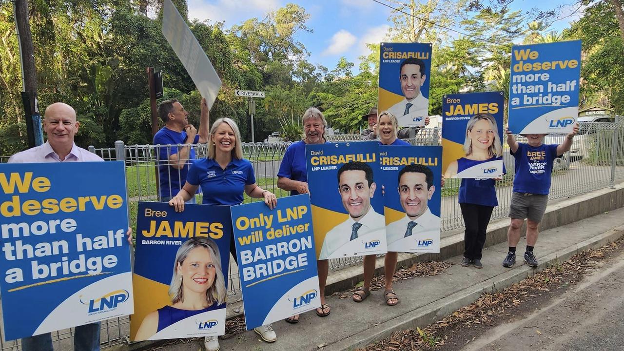
[{"label": "printed blonde woman's portrait on the smaller, farther Bree James poster", "polygon": [[[466,124],[466,139],[463,147],[465,156],[452,161],[444,172],[444,178],[453,177],[487,177],[490,174],[482,170],[485,162],[501,161],[500,166],[489,164],[489,168],[498,167],[500,170],[489,171],[495,175],[502,172],[502,142],[498,125],[494,116],[489,113],[475,114]],[[464,172],[468,171],[468,172]],[[462,173],[463,172],[463,173]]]}]

